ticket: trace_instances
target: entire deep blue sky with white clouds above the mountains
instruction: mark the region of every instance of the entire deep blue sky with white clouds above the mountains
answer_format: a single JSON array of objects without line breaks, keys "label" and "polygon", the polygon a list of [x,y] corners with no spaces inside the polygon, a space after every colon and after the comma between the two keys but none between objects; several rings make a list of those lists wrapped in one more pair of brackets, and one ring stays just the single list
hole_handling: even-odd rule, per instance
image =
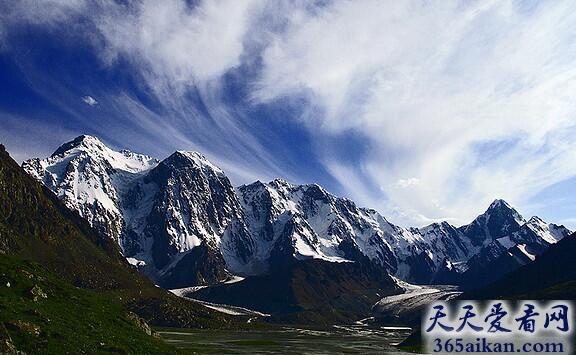
[{"label": "entire deep blue sky with white clouds above the mountains", "polygon": [[196,150],[391,222],[576,229],[573,1],[0,1],[0,142]]}]

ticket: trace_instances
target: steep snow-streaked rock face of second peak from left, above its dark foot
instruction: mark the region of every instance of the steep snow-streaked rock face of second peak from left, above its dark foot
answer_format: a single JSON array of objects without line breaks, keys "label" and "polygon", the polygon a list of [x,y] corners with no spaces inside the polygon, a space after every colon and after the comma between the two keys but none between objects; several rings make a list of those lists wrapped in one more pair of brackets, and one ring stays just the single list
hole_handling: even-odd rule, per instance
[{"label": "steep snow-streaked rock face of second peak from left, above its dark foot", "polygon": [[[224,242],[231,258],[236,248],[244,258],[250,254],[251,238],[234,188],[206,158],[176,152],[150,171],[144,183],[154,184],[157,191],[142,232],[144,239],[153,240],[151,255],[157,268],[201,244],[219,250]],[[232,222],[234,233],[225,233]]]}]

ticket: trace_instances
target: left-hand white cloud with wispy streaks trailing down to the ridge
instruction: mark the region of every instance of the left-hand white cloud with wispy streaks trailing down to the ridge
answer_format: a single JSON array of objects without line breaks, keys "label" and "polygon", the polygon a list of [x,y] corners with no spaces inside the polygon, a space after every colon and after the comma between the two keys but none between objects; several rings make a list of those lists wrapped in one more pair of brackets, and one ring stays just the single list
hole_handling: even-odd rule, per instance
[{"label": "left-hand white cloud with wispy streaks trailing down to the ridge", "polygon": [[[122,147],[146,152],[202,151],[216,159],[237,182],[278,176],[296,180],[294,175],[282,171],[277,159],[258,142],[257,132],[246,128],[244,114],[221,102],[219,80],[240,65],[242,56],[247,54],[244,41],[255,18],[267,6],[264,2],[218,0],[190,5],[185,0],[52,0],[50,4],[34,5],[15,3],[11,12],[19,16],[7,25],[79,24],[78,31],[66,34],[66,40],[88,41],[107,65],[128,61],[130,74],[142,79],[139,84],[162,106],[161,112],[151,110],[130,96],[129,90],[100,90],[98,100],[107,105],[99,111],[100,116],[95,116],[98,119],[90,119],[69,107],[69,88],[53,83],[46,89],[38,83],[49,78],[35,77],[35,90],[82,122],[84,129],[93,134],[100,132],[101,137]],[[40,17],[44,8],[47,18]],[[58,88],[58,95],[54,94],[54,87]],[[187,97],[189,90],[196,89],[203,107]],[[90,95],[81,99],[90,106],[98,104]],[[127,127],[136,129],[132,132]]]}]

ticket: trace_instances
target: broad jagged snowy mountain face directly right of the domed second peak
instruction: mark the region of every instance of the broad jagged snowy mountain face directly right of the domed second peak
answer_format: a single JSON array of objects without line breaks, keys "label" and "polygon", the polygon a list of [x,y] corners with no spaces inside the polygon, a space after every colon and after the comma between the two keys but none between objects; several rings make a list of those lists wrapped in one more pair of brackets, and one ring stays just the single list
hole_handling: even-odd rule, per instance
[{"label": "broad jagged snowy mountain face directly right of the domed second peak", "polygon": [[369,213],[318,185],[274,180],[241,186],[238,193],[255,239],[256,266],[293,257],[357,261],[361,255],[396,268],[394,254]]}]

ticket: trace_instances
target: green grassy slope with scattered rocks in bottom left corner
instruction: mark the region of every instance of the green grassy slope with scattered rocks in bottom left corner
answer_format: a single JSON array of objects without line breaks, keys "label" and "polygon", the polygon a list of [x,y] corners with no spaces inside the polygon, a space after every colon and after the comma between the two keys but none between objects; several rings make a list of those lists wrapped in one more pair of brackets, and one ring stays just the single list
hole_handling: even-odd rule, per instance
[{"label": "green grassy slope with scattered rocks in bottom left corner", "polygon": [[0,353],[167,354],[174,349],[121,302],[39,264],[0,256]]}]

